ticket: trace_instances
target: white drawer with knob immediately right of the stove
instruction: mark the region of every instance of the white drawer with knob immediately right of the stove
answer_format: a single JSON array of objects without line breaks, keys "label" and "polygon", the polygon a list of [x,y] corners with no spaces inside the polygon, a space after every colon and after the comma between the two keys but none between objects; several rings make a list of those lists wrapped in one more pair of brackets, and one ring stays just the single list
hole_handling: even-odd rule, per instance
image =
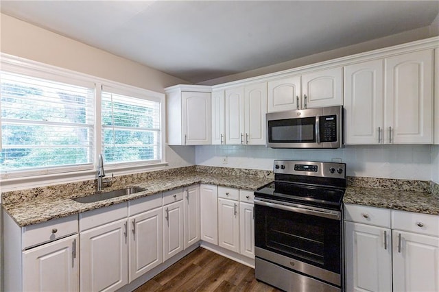
[{"label": "white drawer with knob immediately right of the stove", "polygon": [[390,228],[390,210],[344,204],[344,220]]}]

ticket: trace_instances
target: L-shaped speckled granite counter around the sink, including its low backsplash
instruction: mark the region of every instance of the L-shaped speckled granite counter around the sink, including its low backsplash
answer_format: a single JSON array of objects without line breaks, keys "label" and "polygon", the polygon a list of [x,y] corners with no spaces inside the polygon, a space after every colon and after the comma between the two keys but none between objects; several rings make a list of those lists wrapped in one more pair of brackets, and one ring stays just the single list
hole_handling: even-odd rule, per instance
[{"label": "L-shaped speckled granite counter around the sink, including its low backsplash", "polygon": [[93,193],[93,181],[12,191],[3,194],[3,209],[8,212],[19,226],[23,227],[50,219],[66,217],[96,208],[127,202],[147,195],[154,195],[156,193],[190,186],[191,184],[215,184],[218,186],[228,186],[253,191],[272,182],[270,171],[259,176],[248,176],[220,173],[213,174],[208,168],[199,169],[198,171],[194,170],[193,168],[188,168],[180,172],[164,171],[158,177],[154,177],[157,173],[150,174],[149,178],[141,180],[141,182],[136,182],[136,180],[132,178],[119,178],[119,182],[115,182],[111,187],[106,188],[105,191],[112,191],[128,186],[141,186],[147,188],[147,190],[95,203],[78,203],[72,199]]}]

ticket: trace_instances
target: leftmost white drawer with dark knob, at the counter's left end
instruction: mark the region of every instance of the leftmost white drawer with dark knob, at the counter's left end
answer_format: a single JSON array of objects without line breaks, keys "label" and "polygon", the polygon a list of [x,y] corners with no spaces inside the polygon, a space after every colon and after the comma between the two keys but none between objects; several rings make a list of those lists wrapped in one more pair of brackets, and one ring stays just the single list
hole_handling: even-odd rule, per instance
[{"label": "leftmost white drawer with dark knob, at the counter's left end", "polygon": [[27,247],[54,241],[61,237],[78,233],[78,215],[52,219],[47,222],[25,226],[23,232],[23,250]]}]

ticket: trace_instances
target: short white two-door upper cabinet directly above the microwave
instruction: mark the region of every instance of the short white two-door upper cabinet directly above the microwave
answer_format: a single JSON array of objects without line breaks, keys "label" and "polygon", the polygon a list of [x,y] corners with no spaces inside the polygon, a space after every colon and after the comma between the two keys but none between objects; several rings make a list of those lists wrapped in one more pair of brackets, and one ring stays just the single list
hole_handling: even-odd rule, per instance
[{"label": "short white two-door upper cabinet directly above the microwave", "polygon": [[268,82],[268,112],[342,106],[342,67]]}]

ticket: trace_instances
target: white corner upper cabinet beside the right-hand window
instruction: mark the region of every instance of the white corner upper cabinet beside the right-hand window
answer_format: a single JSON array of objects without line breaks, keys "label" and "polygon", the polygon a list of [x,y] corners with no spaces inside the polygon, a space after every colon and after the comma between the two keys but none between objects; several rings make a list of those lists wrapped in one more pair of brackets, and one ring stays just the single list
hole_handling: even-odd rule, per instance
[{"label": "white corner upper cabinet beside the right-hand window", "polygon": [[169,145],[210,145],[212,142],[211,87],[172,86],[167,96]]}]

